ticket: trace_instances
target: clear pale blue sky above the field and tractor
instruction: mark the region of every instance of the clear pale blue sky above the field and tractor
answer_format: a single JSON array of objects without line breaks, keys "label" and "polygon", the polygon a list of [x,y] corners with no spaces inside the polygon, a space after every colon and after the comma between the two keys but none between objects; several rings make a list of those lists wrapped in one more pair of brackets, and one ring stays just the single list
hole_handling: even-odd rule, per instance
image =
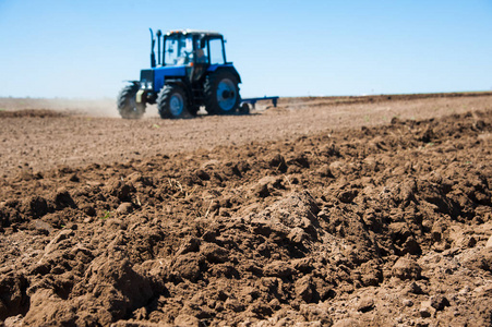
[{"label": "clear pale blue sky above the field and tractor", "polygon": [[492,0],[0,0],[0,96],[116,97],[148,27],[223,33],[243,97],[492,89]]}]

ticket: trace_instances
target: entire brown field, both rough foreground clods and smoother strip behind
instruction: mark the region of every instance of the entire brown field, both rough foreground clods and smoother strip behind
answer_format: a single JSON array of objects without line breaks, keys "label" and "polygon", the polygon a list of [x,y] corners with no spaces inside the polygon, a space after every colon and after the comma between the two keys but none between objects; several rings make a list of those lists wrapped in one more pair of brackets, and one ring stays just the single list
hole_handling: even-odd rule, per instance
[{"label": "entire brown field, both rough foreground clods and smoother strip behind", "polygon": [[3,111],[0,320],[491,326],[492,97],[458,95]]}]

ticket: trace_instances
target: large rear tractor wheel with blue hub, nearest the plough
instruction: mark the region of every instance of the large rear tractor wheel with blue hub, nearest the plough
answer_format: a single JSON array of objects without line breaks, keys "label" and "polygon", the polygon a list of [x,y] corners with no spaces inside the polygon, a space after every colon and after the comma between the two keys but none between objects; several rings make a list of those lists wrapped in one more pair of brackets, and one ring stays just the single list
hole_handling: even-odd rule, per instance
[{"label": "large rear tractor wheel with blue hub, nearest the plough", "polygon": [[211,114],[233,114],[240,96],[238,78],[226,70],[211,74],[205,81],[205,110]]}]

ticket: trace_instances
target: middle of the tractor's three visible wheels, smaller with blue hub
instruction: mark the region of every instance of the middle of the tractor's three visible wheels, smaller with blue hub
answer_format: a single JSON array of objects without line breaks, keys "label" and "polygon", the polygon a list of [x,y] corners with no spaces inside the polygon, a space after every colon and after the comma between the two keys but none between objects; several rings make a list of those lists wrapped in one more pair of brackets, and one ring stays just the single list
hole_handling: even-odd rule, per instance
[{"label": "middle of the tractor's three visible wheels, smaller with blue hub", "polygon": [[190,118],[187,93],[179,85],[165,85],[157,96],[160,118]]}]

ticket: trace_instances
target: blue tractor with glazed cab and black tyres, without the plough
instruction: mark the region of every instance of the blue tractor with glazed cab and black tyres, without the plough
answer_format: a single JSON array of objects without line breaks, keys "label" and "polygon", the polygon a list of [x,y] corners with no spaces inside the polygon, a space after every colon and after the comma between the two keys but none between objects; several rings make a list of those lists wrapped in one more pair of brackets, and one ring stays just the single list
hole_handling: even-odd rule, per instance
[{"label": "blue tractor with glazed cab and black tyres, without the plough", "polygon": [[151,69],[118,95],[122,118],[139,119],[147,104],[157,105],[161,118],[190,118],[201,106],[209,114],[239,111],[241,77],[226,59],[224,36],[215,32],[157,31],[157,56],[151,29]]}]

